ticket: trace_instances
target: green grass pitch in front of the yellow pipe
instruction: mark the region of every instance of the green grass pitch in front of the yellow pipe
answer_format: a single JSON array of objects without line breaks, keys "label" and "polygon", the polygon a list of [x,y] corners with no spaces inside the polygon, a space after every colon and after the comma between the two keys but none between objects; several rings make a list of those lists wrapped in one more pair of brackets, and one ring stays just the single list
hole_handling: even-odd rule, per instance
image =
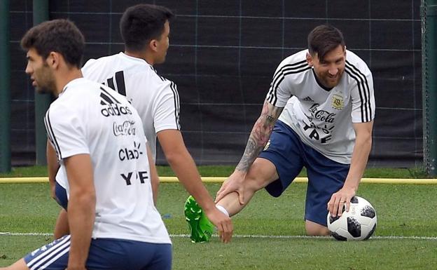
[{"label": "green grass pitch in front of the yellow pipe", "polygon": [[[207,184],[211,194],[219,187]],[[361,184],[358,194],[378,218],[374,237],[363,242],[303,236],[305,190],[292,184],[279,198],[259,191],[233,217],[235,236],[225,245],[217,237],[190,243],[188,194],[180,184],[161,184],[158,209],[172,234],[173,269],[437,269],[437,185]],[[35,233],[50,234],[58,210],[47,184],[0,184],[0,232],[13,233],[0,235],[0,266],[51,241]]]}]

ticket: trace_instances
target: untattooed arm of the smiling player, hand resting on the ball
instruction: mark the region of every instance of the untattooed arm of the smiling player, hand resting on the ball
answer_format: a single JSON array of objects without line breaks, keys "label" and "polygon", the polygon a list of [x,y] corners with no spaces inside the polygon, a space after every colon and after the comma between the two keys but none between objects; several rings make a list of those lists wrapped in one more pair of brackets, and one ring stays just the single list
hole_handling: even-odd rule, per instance
[{"label": "untattooed arm of the smiling player, hand resting on the ball", "polygon": [[335,217],[341,215],[343,205],[346,205],[346,210],[349,211],[350,200],[355,196],[358,190],[361,177],[367,166],[368,156],[372,149],[372,130],[373,121],[366,123],[354,123],[355,130],[355,146],[352,152],[352,160],[347,174],[345,184],[342,189],[331,196],[328,202],[328,211]]}]

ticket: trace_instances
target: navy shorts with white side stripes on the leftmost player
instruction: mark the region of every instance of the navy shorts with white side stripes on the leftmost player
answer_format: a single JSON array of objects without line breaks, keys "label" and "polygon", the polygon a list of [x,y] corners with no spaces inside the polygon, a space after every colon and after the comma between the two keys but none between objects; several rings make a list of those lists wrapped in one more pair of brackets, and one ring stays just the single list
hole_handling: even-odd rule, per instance
[{"label": "navy shorts with white side stripes on the leftmost player", "polygon": [[[70,236],[26,255],[29,269],[64,270],[67,268]],[[170,270],[172,245],[128,241],[111,238],[92,239],[86,269]]]}]

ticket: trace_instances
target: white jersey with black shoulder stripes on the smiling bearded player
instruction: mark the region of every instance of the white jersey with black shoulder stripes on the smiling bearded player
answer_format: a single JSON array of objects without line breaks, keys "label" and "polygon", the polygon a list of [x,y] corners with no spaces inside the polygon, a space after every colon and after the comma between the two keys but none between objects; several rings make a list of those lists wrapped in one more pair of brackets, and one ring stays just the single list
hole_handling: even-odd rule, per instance
[{"label": "white jersey with black shoulder stripes on the smiling bearded player", "polygon": [[366,63],[346,51],[345,72],[331,90],[322,87],[302,50],[277,67],[266,100],[284,107],[279,120],[310,147],[339,163],[349,164],[354,149],[352,123],[375,117],[373,79]]}]

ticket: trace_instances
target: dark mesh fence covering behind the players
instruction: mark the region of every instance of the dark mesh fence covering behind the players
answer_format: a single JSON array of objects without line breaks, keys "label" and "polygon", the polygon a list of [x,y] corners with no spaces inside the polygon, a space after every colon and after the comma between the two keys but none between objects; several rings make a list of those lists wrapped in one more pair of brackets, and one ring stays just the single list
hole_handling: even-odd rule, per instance
[{"label": "dark mesh fence covering behind the players", "polygon": [[[52,0],[50,19],[69,18],[85,34],[85,60],[123,50],[118,21],[127,6],[167,6],[167,62],[178,85],[183,137],[197,164],[236,164],[261,112],[273,72],[306,48],[310,30],[330,23],[373,72],[377,105],[370,166],[421,166],[422,89],[419,0]],[[12,158],[34,164],[34,90],[19,41],[32,26],[32,1],[11,1]],[[158,154],[158,163],[165,157]]]}]

